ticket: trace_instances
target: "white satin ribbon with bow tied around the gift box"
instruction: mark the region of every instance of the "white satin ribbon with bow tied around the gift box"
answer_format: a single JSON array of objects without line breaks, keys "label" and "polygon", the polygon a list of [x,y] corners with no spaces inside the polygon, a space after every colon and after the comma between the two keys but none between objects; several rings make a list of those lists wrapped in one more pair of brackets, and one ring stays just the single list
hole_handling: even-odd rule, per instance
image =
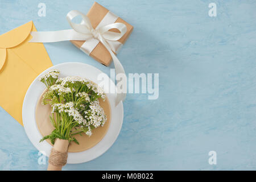
[{"label": "white satin ribbon with bow tied around the gift box", "polygon": [[[82,22],[80,24],[73,23],[72,19],[78,15],[82,16]],[[113,14],[110,13],[108,14],[108,16],[113,16]],[[108,24],[108,22],[104,20],[104,22],[106,22],[104,23],[105,25],[99,24],[94,29],[92,27],[92,24],[90,23],[89,18],[77,10],[69,11],[69,13],[67,14],[67,20],[73,29],[60,30],[60,31],[47,31],[47,32],[31,32],[32,39],[30,40],[30,42],[51,43],[51,42],[60,42],[65,40],[86,40],[86,42],[88,41],[93,42],[94,39],[96,39],[99,42],[101,42],[106,47],[106,49],[108,49],[114,62],[115,74],[116,75],[122,74],[123,79],[125,79],[125,80],[122,80],[122,82],[126,83],[127,78],[125,76],[125,70],[123,69],[123,66],[118,60],[117,56],[115,56],[114,54],[115,51],[118,51],[116,48],[120,47],[119,43],[117,43],[118,42],[117,40],[122,38],[122,36],[126,33],[126,30],[127,30],[126,25],[123,23]],[[112,28],[118,29],[119,32],[109,31]],[[116,46],[113,46],[115,44]],[[117,81],[117,84],[118,82],[119,81]],[[122,85],[122,87],[124,86],[126,88],[126,85]],[[126,93],[123,93],[120,87],[117,86],[117,99],[115,100],[115,104],[118,105],[120,101],[124,101],[125,97],[126,97]]]}]

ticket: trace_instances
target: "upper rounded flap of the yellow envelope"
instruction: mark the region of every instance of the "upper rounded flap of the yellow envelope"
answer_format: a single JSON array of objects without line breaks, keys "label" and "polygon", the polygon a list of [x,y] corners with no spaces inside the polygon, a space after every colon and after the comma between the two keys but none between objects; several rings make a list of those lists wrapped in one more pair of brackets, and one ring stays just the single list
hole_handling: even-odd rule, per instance
[{"label": "upper rounded flap of the yellow envelope", "polygon": [[18,46],[30,35],[32,21],[23,24],[20,27],[0,35],[0,48],[11,48]]}]

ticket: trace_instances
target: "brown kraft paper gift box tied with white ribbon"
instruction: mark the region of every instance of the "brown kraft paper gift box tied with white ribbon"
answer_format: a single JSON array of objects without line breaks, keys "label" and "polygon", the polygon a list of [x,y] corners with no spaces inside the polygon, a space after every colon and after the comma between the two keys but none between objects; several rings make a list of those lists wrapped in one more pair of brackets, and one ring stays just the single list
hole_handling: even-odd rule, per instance
[{"label": "brown kraft paper gift box tied with white ribbon", "polygon": [[[96,28],[98,24],[104,19],[105,15],[108,14],[109,10],[105,7],[99,5],[97,2],[94,2],[93,6],[90,8],[87,16],[90,19],[90,22],[92,23],[93,28]],[[124,44],[133,31],[133,26],[131,26],[129,23],[125,22],[125,20],[121,18],[117,18],[115,22],[111,23],[124,23],[127,27],[127,31],[125,35],[122,36],[121,39],[118,41]],[[118,32],[117,30],[113,29],[111,31]],[[82,44],[84,44],[85,41],[82,40],[71,40],[71,42],[77,47],[81,48]],[[116,54],[116,52],[115,52]],[[98,43],[97,46],[93,49],[92,52],[90,52],[90,56],[93,57],[93,59],[97,60],[98,62],[108,66],[112,62],[112,57],[109,53],[109,51],[103,46],[102,43]]]}]

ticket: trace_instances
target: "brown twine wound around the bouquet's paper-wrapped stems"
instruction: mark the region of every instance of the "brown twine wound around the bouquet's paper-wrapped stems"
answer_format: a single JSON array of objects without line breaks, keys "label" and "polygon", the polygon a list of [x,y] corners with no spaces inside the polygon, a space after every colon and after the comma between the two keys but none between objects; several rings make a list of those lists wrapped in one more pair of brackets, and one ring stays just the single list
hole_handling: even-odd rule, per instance
[{"label": "brown twine wound around the bouquet's paper-wrapped stems", "polygon": [[53,166],[65,166],[67,158],[68,152],[61,152],[52,148],[51,154],[49,155],[49,164]]}]

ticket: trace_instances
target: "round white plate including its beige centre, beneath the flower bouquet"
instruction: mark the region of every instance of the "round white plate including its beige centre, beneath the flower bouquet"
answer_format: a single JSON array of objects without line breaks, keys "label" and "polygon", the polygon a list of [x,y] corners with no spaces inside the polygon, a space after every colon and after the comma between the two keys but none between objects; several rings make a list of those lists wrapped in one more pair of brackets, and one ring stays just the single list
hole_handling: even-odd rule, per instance
[{"label": "round white plate including its beige centre, beneath the flower bouquet", "polygon": [[[24,97],[22,106],[22,121],[24,125],[24,130],[31,143],[41,152],[49,156],[51,152],[52,145],[42,139],[43,135],[47,135],[51,130],[51,125],[49,125],[49,107],[43,107],[39,105],[42,93],[46,90],[46,86],[38,80],[39,77],[50,71],[51,69],[58,69],[60,71],[59,77],[67,76],[79,76],[87,78],[100,85],[102,80],[98,80],[98,76],[104,74],[99,69],[92,67],[91,65],[84,63],[62,63],[53,65],[53,67],[46,69],[46,71],[40,73],[38,77],[32,82],[27,90],[26,96]],[[102,75],[101,75],[102,77]],[[101,102],[104,107],[104,111],[108,117],[108,121],[105,123],[104,127],[94,129],[92,131],[92,136],[77,135],[77,139],[80,142],[80,146],[72,143],[68,151],[68,164],[84,163],[97,158],[98,156],[104,154],[117,139],[122,123],[123,123],[123,103],[122,101],[116,106],[115,100],[117,98],[116,93],[108,93],[109,88],[113,90],[115,88],[114,82],[105,74],[109,85],[104,89],[106,97],[108,100]],[[112,89],[111,89],[112,88]],[[116,89],[114,89],[116,90]],[[42,114],[39,117],[38,113]],[[41,119],[39,119],[41,118]]]}]

